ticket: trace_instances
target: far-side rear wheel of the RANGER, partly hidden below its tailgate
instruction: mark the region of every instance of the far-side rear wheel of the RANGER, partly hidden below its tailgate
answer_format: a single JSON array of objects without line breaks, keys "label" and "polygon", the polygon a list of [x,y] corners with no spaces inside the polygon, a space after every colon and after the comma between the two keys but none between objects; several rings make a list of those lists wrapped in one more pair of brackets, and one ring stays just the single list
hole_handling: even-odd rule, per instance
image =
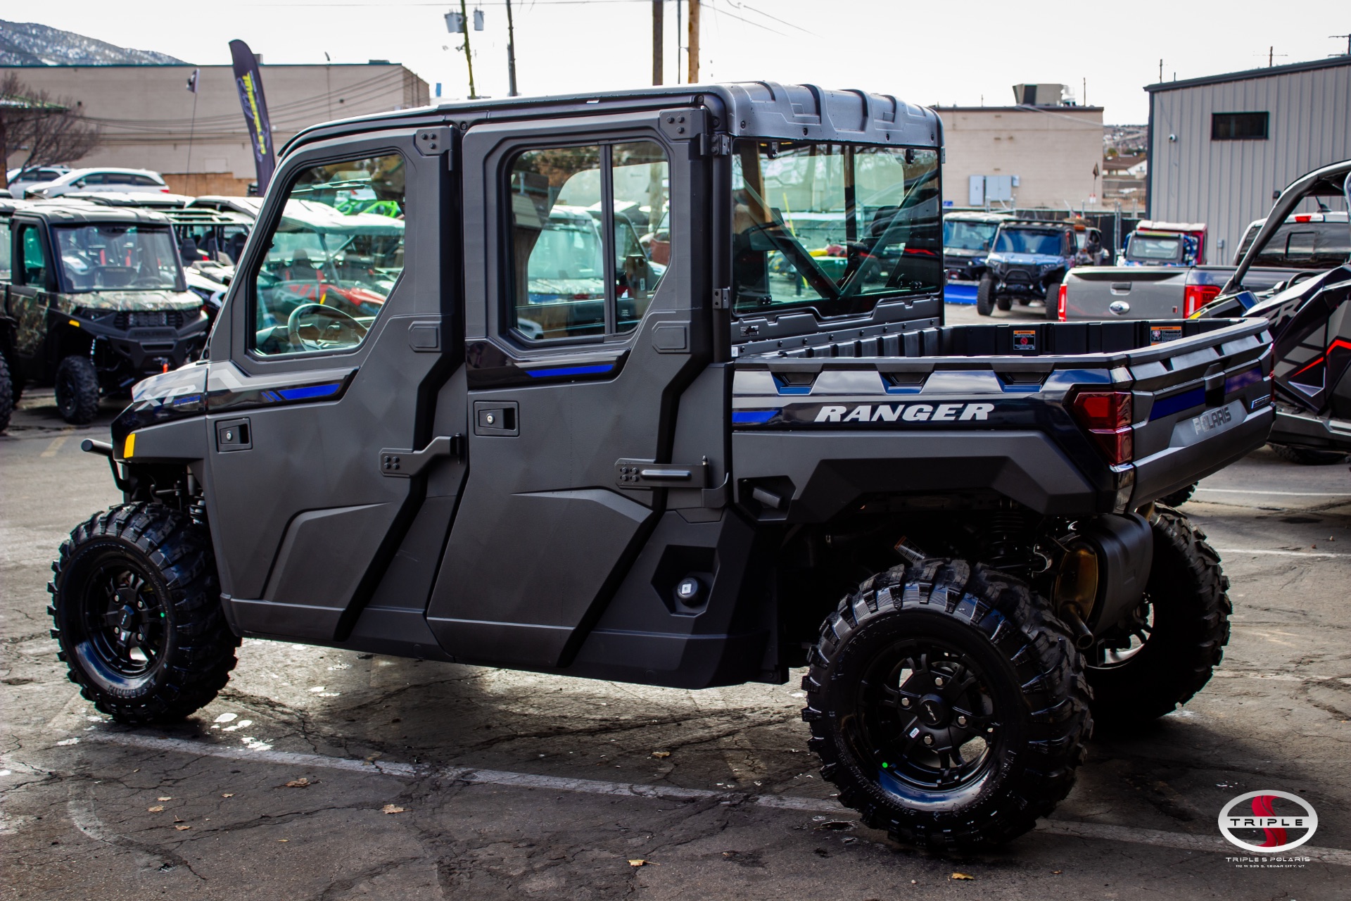
[{"label": "far-side rear wheel of the RANGER, partly hidden below its tailgate", "polygon": [[1089,651],[1098,725],[1129,727],[1171,713],[1210,681],[1229,643],[1233,605],[1219,554],[1186,516],[1155,511],[1144,600]]}]

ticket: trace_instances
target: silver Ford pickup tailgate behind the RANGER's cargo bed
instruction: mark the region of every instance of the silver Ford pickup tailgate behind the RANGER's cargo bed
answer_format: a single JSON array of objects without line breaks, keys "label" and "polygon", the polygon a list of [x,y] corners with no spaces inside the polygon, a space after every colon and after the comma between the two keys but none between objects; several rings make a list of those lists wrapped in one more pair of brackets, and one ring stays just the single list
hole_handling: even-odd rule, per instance
[{"label": "silver Ford pickup tailgate behind the RANGER's cargo bed", "polygon": [[1182,315],[1186,269],[1081,266],[1065,276],[1065,319],[1167,319]]}]

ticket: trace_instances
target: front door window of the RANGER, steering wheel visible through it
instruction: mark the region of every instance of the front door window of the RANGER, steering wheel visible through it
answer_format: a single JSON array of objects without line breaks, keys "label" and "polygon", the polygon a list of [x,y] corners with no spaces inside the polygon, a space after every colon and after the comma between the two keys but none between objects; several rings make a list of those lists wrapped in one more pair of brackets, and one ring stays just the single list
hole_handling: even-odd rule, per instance
[{"label": "front door window of the RANGER, steering wheel visible through it", "polygon": [[254,350],[361,344],[404,269],[405,211],[397,154],[301,170],[254,277]]}]

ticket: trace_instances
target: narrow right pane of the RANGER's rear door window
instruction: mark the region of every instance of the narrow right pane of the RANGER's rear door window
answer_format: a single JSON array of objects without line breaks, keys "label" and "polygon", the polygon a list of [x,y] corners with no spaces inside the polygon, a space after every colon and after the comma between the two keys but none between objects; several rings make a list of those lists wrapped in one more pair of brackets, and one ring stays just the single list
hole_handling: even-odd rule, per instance
[{"label": "narrow right pane of the RANGER's rear door window", "polygon": [[[616,331],[627,332],[638,327],[666,274],[666,265],[653,259],[653,240],[669,207],[670,163],[658,145],[635,140],[611,147],[611,165]],[[670,259],[669,243],[665,259]]]}]

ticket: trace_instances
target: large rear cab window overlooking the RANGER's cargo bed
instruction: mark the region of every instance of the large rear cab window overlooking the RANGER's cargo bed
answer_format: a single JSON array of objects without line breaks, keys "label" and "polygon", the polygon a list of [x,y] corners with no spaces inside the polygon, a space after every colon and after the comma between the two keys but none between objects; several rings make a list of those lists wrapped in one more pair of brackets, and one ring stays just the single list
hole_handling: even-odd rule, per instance
[{"label": "large rear cab window overlooking the RANGER's cargo bed", "polygon": [[738,140],[734,311],[866,312],[939,290],[938,153]]}]

